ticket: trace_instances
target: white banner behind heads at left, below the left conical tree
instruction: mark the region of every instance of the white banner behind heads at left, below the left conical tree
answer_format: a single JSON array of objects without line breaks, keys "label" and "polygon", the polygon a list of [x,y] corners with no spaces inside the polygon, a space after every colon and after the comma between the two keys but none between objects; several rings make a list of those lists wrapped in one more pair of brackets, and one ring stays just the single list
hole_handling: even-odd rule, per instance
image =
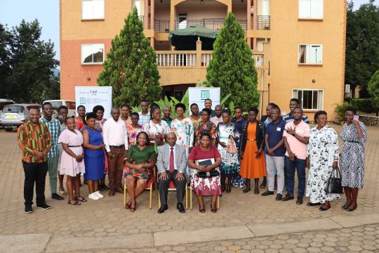
[{"label": "white banner behind heads at left, below the left conical tree", "polygon": [[[112,109],[112,87],[110,86],[77,86],[75,87],[75,101],[77,107],[84,105],[86,112],[92,112],[96,105],[104,108],[105,119],[110,119]],[[77,112],[78,115],[78,112]]]}]

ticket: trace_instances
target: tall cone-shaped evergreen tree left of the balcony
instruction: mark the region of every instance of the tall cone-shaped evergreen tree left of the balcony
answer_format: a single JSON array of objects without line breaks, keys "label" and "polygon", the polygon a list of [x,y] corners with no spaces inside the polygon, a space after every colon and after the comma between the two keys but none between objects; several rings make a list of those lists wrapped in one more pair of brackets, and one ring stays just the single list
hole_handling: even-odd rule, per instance
[{"label": "tall cone-shaped evergreen tree left of the balcony", "polygon": [[[146,20],[147,21],[147,20]],[[112,86],[112,104],[138,105],[140,100],[149,103],[158,100],[162,87],[159,86],[157,53],[149,46],[143,34],[143,23],[138,18],[137,8],[125,19],[120,35],[112,39],[112,48],[99,74],[99,86]]]}]

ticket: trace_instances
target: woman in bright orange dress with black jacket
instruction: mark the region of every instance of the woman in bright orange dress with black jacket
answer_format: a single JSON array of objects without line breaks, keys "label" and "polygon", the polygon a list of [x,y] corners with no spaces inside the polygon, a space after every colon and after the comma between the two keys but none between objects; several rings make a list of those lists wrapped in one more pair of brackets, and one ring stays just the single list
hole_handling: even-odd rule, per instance
[{"label": "woman in bright orange dress with black jacket", "polygon": [[239,175],[246,179],[248,193],[251,178],[255,181],[254,194],[259,194],[258,182],[261,176],[267,176],[265,156],[261,155],[265,149],[265,124],[257,120],[258,108],[248,109],[248,122],[242,124],[239,144],[239,157],[241,157],[241,168]]}]

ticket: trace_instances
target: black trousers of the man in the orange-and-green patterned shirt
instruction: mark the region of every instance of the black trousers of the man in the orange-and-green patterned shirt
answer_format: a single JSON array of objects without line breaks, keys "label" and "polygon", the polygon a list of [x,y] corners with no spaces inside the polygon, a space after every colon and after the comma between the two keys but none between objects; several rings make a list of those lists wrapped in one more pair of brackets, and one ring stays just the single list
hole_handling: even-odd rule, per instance
[{"label": "black trousers of the man in the orange-and-green patterned shirt", "polygon": [[36,183],[36,204],[45,202],[45,183],[48,171],[48,162],[24,162],[22,166],[25,172],[24,198],[25,205],[33,205],[34,182]]}]

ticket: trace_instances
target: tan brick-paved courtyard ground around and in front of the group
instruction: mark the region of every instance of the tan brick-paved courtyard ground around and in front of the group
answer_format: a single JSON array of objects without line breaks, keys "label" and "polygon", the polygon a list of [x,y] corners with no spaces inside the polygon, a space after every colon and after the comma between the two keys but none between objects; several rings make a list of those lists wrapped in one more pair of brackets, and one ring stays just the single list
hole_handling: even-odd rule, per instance
[{"label": "tan brick-paved courtyard ground around and in front of the group", "polygon": [[[333,128],[340,133],[342,131],[342,126],[331,125]],[[48,177],[46,177],[46,203],[51,205],[52,209],[42,210],[36,209],[34,204],[34,212],[32,214],[24,213],[23,205],[23,181],[24,174],[22,171],[21,157],[22,153],[17,143],[16,131],[5,132],[0,130],[0,235],[22,235],[28,233],[38,233],[38,234],[48,234],[51,238],[62,238],[69,236],[79,236],[79,237],[103,237],[105,235],[109,236],[121,236],[121,235],[133,235],[133,234],[146,234],[151,235],[159,232],[170,232],[170,231],[194,231],[197,229],[205,228],[232,228],[234,226],[265,226],[282,224],[282,223],[293,223],[293,221],[322,221],[325,218],[333,218],[335,216],[345,217],[345,219],[356,219],[358,216],[377,214],[379,208],[378,196],[379,189],[377,187],[377,182],[379,179],[378,171],[378,140],[379,140],[379,128],[370,126],[368,127],[368,141],[366,142],[366,174],[365,174],[365,188],[359,191],[358,208],[354,212],[345,212],[340,209],[340,206],[345,203],[345,195],[341,196],[341,200],[333,201],[332,208],[327,212],[320,212],[319,207],[307,207],[307,198],[305,198],[304,205],[295,205],[295,200],[289,202],[277,202],[273,196],[262,197],[260,195],[254,195],[253,192],[247,194],[242,193],[242,189],[232,188],[232,193],[224,194],[220,197],[220,209],[216,214],[210,212],[208,207],[210,203],[210,198],[206,199],[206,213],[201,214],[197,210],[199,208],[197,204],[197,199],[193,196],[194,209],[187,209],[185,214],[180,214],[175,208],[175,193],[169,193],[168,197],[168,210],[164,214],[157,214],[158,200],[155,199],[153,194],[153,205],[152,209],[149,209],[149,194],[146,192],[138,199],[137,209],[134,213],[129,212],[124,209],[124,196],[117,193],[114,197],[108,197],[107,191],[103,192],[105,197],[102,200],[88,200],[88,202],[82,203],[81,206],[74,207],[72,205],[67,205],[67,197],[65,200],[58,201],[52,200],[50,195],[50,188],[48,186]],[[342,143],[340,143],[340,147]],[[267,190],[267,188],[261,190]],[[88,188],[86,186],[81,187],[81,195],[88,197]],[[295,193],[296,195],[296,193]],[[350,217],[351,216],[351,217]],[[379,220],[378,220],[379,221]],[[372,221],[375,222],[375,221]],[[359,224],[360,225],[360,224]],[[367,230],[366,230],[367,228]],[[323,234],[334,234],[340,235],[343,238],[351,238],[354,236],[378,235],[378,231],[371,232],[375,226],[364,227],[364,228],[354,228],[364,231],[368,231],[368,234],[360,234],[363,231],[315,231],[312,232],[314,239],[318,238],[316,235],[319,233]],[[376,226],[378,228],[378,226]],[[344,228],[347,229],[347,228]],[[348,234],[350,233],[350,234]],[[359,234],[356,234],[359,233]],[[372,234],[370,234],[372,233]],[[375,235],[373,235],[375,233]],[[311,236],[310,233],[303,233],[306,236]],[[138,235],[137,235],[138,236]],[[257,235],[255,235],[257,236]],[[318,248],[324,252],[321,247],[335,247],[336,251],[347,251],[349,245],[346,243],[354,242],[350,240],[342,240],[345,242],[344,245],[320,245],[312,246],[310,239],[303,237],[301,234],[291,234],[283,235],[288,236],[289,239],[281,238],[281,235],[264,238],[262,240],[265,243],[269,243],[267,248],[272,249],[272,252],[276,252],[276,249],[281,249],[281,252],[286,252],[284,249],[290,249],[283,246],[283,248],[274,248],[277,246],[270,245],[286,245],[284,241],[286,240],[299,240],[299,242],[292,243],[295,241],[287,242],[287,244],[295,245],[296,250],[305,249],[310,247],[313,250]],[[292,238],[294,237],[294,238]],[[302,237],[302,238],[300,238]],[[297,239],[299,238],[299,239]],[[332,235],[328,235],[328,239],[333,238]],[[267,240],[266,240],[267,239]],[[305,240],[301,242],[301,240]],[[322,238],[321,238],[322,239]],[[324,243],[324,242],[315,243]],[[379,243],[379,238],[373,238],[372,241],[375,242],[373,247],[376,247]],[[141,238],[141,240],[143,240]],[[148,240],[148,239],[147,239]],[[244,239],[243,242],[250,242],[251,240]],[[255,242],[262,241],[260,238],[252,239],[251,243],[246,243],[246,245],[254,245]],[[278,240],[281,243],[271,243]],[[318,239],[317,239],[318,240]],[[333,239],[334,240],[334,239]],[[369,239],[364,239],[369,240]],[[376,240],[376,241],[375,241]],[[340,241],[340,240],[338,240]],[[357,240],[358,242],[359,240]],[[208,245],[209,248],[201,249],[204,252],[216,250],[225,251],[227,247],[236,247],[234,250],[236,252],[241,249],[244,245],[243,242],[236,239],[236,241],[228,242],[217,242],[218,245]],[[328,240],[326,240],[328,242]],[[373,243],[370,242],[370,243]],[[212,242],[213,243],[213,242]],[[216,243],[216,242],[214,242]],[[222,245],[222,243],[230,243],[230,245]],[[300,243],[300,245],[298,245]],[[304,245],[301,245],[304,243]],[[79,242],[80,244],[80,242]],[[305,244],[310,244],[310,246]],[[359,243],[358,243],[359,244]],[[245,247],[247,247],[245,245]],[[251,249],[261,249],[260,247],[265,247],[263,243],[261,246],[257,246]],[[316,244],[315,244],[316,245]],[[366,243],[365,243],[366,245]],[[367,244],[368,245],[368,244]],[[203,246],[193,246],[206,247],[205,243]],[[304,247],[302,247],[304,246]],[[353,245],[350,245],[353,246]],[[361,245],[355,245],[361,247]],[[184,246],[183,246],[184,247]],[[189,246],[192,247],[192,246]],[[211,249],[212,247],[212,249]],[[215,247],[222,247],[216,249]],[[292,247],[292,246],[288,246]],[[344,249],[337,249],[337,247],[345,247]],[[1,249],[1,248],[0,248]],[[80,249],[80,247],[79,247]],[[162,250],[161,248],[154,248],[151,250],[161,250],[167,252],[171,249]],[[262,248],[263,249],[263,248]],[[291,248],[292,249],[292,248]],[[366,249],[361,247],[361,249]],[[189,250],[183,249],[183,250]],[[314,249],[317,250],[317,249]],[[374,250],[372,247],[369,250]],[[174,250],[175,251],[175,250]],[[294,252],[295,249],[293,249]],[[0,250],[1,252],[1,250]],[[243,252],[243,251],[241,251]],[[269,252],[269,251],[267,251]],[[316,252],[316,251],[315,251]]]}]

